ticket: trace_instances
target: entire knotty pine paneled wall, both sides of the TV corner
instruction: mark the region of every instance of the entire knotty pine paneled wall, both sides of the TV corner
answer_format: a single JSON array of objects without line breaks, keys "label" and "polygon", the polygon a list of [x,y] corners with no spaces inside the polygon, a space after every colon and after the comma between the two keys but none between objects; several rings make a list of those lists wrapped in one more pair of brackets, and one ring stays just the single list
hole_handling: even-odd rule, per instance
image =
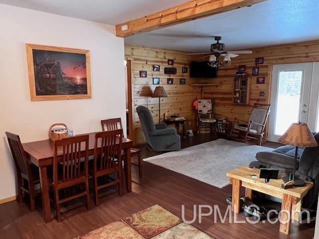
[{"label": "entire knotty pine paneled wall, both sides of the TV corner", "polygon": [[[139,105],[147,106],[152,112],[154,121],[158,122],[159,101],[157,98],[151,98],[151,96],[156,87],[153,85],[153,77],[160,77],[160,85],[164,86],[168,95],[168,98],[161,99],[161,118],[163,118],[164,113],[178,113],[190,121],[191,126],[187,127],[194,129],[196,113],[191,104],[196,98],[200,98],[200,87],[191,87],[189,84],[205,82],[222,84],[220,86],[204,87],[204,98],[214,100],[214,112],[217,117],[226,116],[229,120],[236,117],[247,121],[254,103],[270,103],[274,64],[319,61],[319,41],[276,45],[251,50],[253,50],[253,54],[240,55],[232,59],[230,66],[219,67],[217,78],[199,80],[189,78],[189,63],[191,60],[197,60],[200,56],[187,57],[185,53],[178,51],[126,45],[126,58],[132,61],[134,110]],[[264,57],[264,64],[256,66],[255,58],[257,57]],[[177,75],[168,76],[163,73],[164,67],[169,67],[167,59],[174,59]],[[153,64],[160,65],[160,72],[153,72]],[[246,65],[246,72],[251,80],[250,104],[248,106],[232,104],[234,75],[240,65]],[[183,66],[188,67],[187,74],[181,73]],[[253,67],[259,67],[258,76],[252,76]],[[148,78],[140,78],[140,70],[148,71]],[[257,84],[257,77],[265,77],[265,84]],[[174,85],[167,85],[167,78],[174,78]],[[179,78],[186,78],[186,85],[179,85]],[[265,92],[265,96],[260,96],[260,92]],[[134,115],[134,129],[136,143],[143,143],[145,139],[136,113]],[[267,133],[265,139],[267,139]]]}]

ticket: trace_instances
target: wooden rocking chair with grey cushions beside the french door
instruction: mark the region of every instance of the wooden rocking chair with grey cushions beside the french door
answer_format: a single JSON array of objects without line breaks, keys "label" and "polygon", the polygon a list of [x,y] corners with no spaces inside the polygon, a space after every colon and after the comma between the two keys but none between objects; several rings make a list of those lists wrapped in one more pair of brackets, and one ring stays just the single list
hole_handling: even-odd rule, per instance
[{"label": "wooden rocking chair with grey cushions beside the french door", "polygon": [[[254,104],[249,122],[235,118],[229,136],[231,137],[234,132],[237,134],[242,132],[245,134],[244,142],[246,142],[248,138],[252,138],[257,139],[258,144],[262,145],[265,134],[264,129],[269,113],[270,105]],[[240,123],[243,123],[247,126],[242,126]]]}]

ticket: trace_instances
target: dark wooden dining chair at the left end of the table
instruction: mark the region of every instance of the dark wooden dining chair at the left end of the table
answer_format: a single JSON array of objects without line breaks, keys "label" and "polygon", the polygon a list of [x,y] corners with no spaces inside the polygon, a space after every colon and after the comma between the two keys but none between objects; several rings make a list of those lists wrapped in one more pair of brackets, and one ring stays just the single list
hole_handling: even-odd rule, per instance
[{"label": "dark wooden dining chair at the left end of the table", "polygon": [[[39,171],[35,165],[30,165],[24,152],[20,137],[17,134],[5,132],[9,147],[11,150],[12,158],[15,164],[18,195],[17,201],[21,202],[23,194],[29,194],[30,211],[35,210],[35,196],[40,194],[40,180]],[[38,187],[38,189],[35,189]]]}]

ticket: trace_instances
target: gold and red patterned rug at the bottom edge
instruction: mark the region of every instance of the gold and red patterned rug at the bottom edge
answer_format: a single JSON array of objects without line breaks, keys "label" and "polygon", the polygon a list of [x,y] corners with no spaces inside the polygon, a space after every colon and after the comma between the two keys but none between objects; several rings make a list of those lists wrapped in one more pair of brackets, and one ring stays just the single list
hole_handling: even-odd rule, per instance
[{"label": "gold and red patterned rug at the bottom edge", "polygon": [[144,209],[77,239],[213,239],[159,205]]}]

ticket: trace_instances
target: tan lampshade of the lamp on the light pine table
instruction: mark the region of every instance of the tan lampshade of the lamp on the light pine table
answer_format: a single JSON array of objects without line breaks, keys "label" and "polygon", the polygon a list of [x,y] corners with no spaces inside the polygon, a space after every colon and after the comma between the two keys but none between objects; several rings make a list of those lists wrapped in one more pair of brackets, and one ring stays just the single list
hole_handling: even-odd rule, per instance
[{"label": "tan lampshade of the lamp on the light pine table", "polygon": [[281,136],[278,142],[298,147],[316,147],[318,142],[307,123],[293,123]]}]

